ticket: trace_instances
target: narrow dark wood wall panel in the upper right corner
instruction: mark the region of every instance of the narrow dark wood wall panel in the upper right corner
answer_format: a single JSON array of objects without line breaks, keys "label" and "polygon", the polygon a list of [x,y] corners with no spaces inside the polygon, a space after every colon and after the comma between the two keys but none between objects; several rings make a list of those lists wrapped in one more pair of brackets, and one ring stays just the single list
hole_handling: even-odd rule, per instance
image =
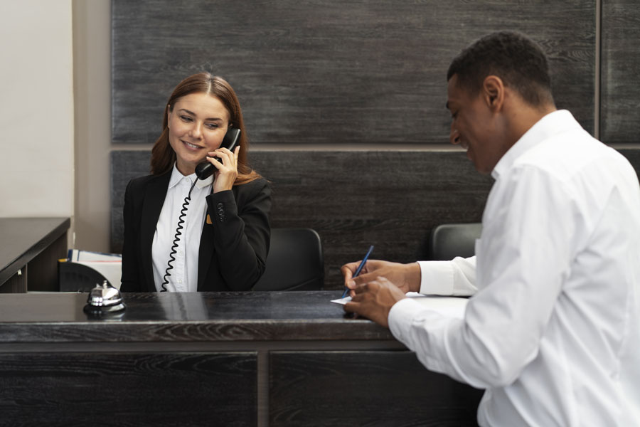
[{"label": "narrow dark wood wall panel in the upper right corner", "polygon": [[640,142],[640,3],[602,1],[600,138]]}]

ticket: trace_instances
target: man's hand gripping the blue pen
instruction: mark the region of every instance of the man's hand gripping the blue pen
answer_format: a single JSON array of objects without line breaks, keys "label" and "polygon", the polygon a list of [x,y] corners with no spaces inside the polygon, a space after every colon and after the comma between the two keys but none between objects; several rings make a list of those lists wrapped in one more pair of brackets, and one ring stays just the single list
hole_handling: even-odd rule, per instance
[{"label": "man's hand gripping the blue pen", "polygon": [[418,263],[400,264],[389,261],[368,260],[357,278],[353,278],[353,273],[358,268],[360,262],[348,263],[342,266],[341,271],[344,276],[344,285],[353,290],[358,285],[369,283],[378,277],[387,278],[395,283],[403,293],[420,292],[420,265]]}]

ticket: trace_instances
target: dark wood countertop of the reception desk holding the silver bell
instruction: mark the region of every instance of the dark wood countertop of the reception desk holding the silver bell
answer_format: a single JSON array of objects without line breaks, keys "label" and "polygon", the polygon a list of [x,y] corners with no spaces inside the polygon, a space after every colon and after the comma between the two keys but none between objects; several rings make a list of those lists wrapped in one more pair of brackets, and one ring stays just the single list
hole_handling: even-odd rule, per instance
[{"label": "dark wood countertop of the reception desk holding the silver bell", "polygon": [[388,329],[330,302],[341,294],[123,292],[126,310],[102,316],[82,311],[86,292],[8,294],[0,297],[0,344],[395,343]]}]

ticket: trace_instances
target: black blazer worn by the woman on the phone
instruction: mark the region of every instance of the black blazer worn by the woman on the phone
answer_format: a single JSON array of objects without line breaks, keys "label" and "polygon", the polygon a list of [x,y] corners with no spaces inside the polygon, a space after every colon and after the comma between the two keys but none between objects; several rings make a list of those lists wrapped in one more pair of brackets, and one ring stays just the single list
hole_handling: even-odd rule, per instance
[{"label": "black blazer worn by the woman on the phone", "polygon": [[[151,243],[171,170],[132,179],[124,194],[123,292],[155,292]],[[266,179],[207,196],[198,255],[198,291],[250,290],[265,272],[271,228]],[[177,221],[177,218],[176,218]],[[168,261],[168,260],[167,260]]]}]

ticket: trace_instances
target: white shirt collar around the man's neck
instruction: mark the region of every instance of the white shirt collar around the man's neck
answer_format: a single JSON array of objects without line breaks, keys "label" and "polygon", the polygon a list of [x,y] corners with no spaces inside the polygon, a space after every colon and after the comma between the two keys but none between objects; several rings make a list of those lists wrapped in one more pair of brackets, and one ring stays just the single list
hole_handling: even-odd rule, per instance
[{"label": "white shirt collar around the man's neck", "polygon": [[559,132],[564,132],[565,130],[575,129],[576,127],[580,128],[580,123],[575,120],[569,111],[556,110],[550,112],[530,127],[529,130],[516,141],[516,144],[513,144],[513,146],[508,149],[501,159],[498,160],[496,167],[494,167],[494,170],[491,172],[491,176],[493,176],[494,179],[498,179],[501,174],[511,169],[518,157],[521,157],[521,155],[529,149],[540,144],[540,142],[543,142],[548,137],[557,135]]}]

